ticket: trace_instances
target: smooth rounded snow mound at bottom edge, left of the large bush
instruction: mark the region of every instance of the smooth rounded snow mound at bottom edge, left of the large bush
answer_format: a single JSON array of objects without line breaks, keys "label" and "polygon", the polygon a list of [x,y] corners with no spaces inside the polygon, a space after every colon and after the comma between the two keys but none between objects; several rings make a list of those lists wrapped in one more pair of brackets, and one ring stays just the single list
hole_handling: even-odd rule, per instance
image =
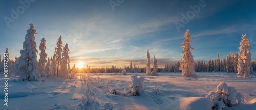
[{"label": "smooth rounded snow mound at bottom edge, left of the large bush", "polygon": [[181,110],[189,110],[189,109],[197,109],[197,110],[211,110],[211,107],[214,106],[211,100],[206,97],[189,97],[180,100],[180,109]]}]

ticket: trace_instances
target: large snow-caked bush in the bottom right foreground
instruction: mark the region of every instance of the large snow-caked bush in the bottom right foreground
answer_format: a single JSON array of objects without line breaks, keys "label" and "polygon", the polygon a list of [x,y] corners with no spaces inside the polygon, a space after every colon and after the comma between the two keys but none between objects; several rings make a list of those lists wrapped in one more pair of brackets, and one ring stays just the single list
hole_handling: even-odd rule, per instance
[{"label": "large snow-caked bush in the bottom right foreground", "polygon": [[206,97],[214,102],[214,109],[222,109],[225,105],[232,107],[244,102],[242,94],[234,87],[227,86],[226,82],[221,82],[217,86],[217,91],[210,91]]}]

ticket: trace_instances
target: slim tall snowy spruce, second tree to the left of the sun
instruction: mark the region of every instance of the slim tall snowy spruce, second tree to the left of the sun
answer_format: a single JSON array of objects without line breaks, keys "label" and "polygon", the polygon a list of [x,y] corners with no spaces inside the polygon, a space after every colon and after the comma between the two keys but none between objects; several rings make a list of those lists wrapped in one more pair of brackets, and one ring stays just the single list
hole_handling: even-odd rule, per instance
[{"label": "slim tall snowy spruce, second tree to the left of the sun", "polygon": [[62,63],[62,52],[63,52],[61,35],[59,36],[56,45],[57,47],[55,48],[55,52],[56,52],[56,63],[57,63],[57,77],[58,77],[58,73],[60,72],[60,66]]}]

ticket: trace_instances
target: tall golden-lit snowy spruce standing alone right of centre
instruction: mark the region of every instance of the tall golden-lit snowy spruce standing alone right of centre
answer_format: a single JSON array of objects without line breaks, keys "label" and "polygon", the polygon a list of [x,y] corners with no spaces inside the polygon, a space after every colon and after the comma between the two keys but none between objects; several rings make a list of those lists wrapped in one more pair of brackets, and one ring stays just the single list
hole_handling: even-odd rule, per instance
[{"label": "tall golden-lit snowy spruce standing alone right of centre", "polygon": [[195,50],[194,48],[191,47],[190,42],[191,42],[191,35],[189,33],[189,30],[187,29],[186,33],[184,34],[186,39],[181,43],[181,47],[183,48],[182,55],[182,63],[181,63],[181,69],[182,69],[182,75],[181,77],[196,77],[195,70],[194,70],[194,59],[192,56],[191,50]]}]

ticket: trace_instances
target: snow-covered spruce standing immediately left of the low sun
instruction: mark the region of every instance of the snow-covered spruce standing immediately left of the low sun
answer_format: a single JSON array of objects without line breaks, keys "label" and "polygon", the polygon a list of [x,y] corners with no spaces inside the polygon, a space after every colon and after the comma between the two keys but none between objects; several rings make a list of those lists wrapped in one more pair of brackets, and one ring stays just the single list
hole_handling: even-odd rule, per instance
[{"label": "snow-covered spruce standing immediately left of the low sun", "polygon": [[71,78],[71,72],[70,72],[70,61],[69,61],[69,46],[68,44],[65,44],[63,48],[63,54],[62,54],[62,65],[61,65],[61,74],[64,78]]}]

